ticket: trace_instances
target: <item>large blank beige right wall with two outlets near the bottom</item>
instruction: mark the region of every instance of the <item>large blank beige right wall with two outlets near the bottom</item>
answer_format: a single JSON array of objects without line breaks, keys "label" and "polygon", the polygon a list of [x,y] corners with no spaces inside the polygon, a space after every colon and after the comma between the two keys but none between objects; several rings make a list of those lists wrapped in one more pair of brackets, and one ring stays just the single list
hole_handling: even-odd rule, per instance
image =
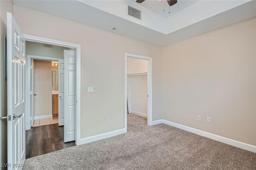
[{"label": "large blank beige right wall with two outlets near the bottom", "polygon": [[168,45],[162,55],[164,119],[256,145],[256,18]]}]

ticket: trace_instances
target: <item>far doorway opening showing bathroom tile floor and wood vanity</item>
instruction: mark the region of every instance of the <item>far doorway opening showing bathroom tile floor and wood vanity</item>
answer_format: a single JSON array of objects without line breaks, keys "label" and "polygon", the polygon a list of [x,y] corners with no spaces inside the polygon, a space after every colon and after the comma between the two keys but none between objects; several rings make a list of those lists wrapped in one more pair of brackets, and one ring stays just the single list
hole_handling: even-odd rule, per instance
[{"label": "far doorway opening showing bathroom tile floor and wood vanity", "polygon": [[58,61],[31,59],[31,127],[58,124]]}]

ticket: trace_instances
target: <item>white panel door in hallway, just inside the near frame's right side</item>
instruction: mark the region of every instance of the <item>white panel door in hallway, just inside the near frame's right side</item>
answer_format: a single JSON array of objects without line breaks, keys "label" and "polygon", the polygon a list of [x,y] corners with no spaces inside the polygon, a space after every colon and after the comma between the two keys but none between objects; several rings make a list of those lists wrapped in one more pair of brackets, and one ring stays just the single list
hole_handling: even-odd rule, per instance
[{"label": "white panel door in hallway, just inside the near frame's right side", "polygon": [[76,140],[76,51],[64,50],[64,142]]}]

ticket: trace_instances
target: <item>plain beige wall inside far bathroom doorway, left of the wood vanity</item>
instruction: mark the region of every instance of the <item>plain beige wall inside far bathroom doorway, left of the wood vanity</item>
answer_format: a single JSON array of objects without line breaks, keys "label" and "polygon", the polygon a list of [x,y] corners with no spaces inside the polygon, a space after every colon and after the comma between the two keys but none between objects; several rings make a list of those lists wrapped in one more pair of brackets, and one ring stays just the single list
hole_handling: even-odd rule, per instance
[{"label": "plain beige wall inside far bathroom doorway, left of the wood vanity", "polygon": [[52,114],[52,61],[35,62],[35,116]]}]

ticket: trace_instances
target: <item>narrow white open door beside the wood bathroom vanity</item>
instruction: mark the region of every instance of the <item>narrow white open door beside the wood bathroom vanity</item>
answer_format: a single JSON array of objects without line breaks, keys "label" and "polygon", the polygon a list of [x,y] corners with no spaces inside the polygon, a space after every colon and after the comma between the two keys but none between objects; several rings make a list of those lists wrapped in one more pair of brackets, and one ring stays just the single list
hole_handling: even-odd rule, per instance
[{"label": "narrow white open door beside the wood bathroom vanity", "polygon": [[64,60],[58,61],[59,126],[64,125]]}]

